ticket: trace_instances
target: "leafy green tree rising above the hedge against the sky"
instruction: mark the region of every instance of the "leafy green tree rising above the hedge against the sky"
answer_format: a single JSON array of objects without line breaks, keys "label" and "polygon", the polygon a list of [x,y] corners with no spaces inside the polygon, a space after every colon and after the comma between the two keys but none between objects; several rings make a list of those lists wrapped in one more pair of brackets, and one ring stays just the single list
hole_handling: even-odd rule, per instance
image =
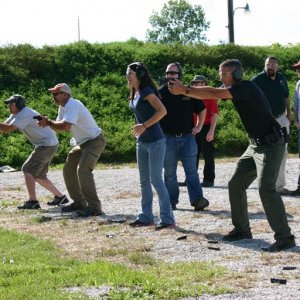
[{"label": "leafy green tree rising above the hedge against the sky", "polygon": [[185,0],[169,0],[161,12],[153,12],[149,18],[152,30],[146,32],[146,40],[164,44],[197,44],[207,41],[204,32],[209,28],[201,5],[192,6]]}]

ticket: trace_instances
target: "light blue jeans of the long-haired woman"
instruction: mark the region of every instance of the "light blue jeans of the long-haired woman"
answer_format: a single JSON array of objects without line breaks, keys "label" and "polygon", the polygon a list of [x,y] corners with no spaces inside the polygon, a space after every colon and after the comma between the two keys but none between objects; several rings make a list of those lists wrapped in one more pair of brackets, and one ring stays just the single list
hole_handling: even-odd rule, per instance
[{"label": "light blue jeans of the long-haired woman", "polygon": [[169,194],[162,177],[165,151],[165,139],[153,143],[137,141],[136,144],[142,193],[142,212],[139,214],[138,219],[143,223],[153,223],[154,221],[152,184],[158,195],[160,222],[175,224]]}]

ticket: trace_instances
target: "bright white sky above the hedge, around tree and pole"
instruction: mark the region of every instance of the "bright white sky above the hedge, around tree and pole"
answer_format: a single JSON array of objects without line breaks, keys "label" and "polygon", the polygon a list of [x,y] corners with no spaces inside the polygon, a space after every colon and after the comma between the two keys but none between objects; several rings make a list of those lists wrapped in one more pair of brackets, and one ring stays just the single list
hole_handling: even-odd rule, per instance
[{"label": "bright white sky above the hedge, around tree and pole", "polygon": [[[153,10],[166,0],[0,0],[0,46],[30,43],[61,45],[80,38],[91,43],[144,40]],[[209,44],[228,42],[227,0],[189,0],[201,5],[210,29]],[[248,3],[251,13],[234,14],[235,42],[240,45],[300,43],[300,1],[234,0],[234,8]]]}]

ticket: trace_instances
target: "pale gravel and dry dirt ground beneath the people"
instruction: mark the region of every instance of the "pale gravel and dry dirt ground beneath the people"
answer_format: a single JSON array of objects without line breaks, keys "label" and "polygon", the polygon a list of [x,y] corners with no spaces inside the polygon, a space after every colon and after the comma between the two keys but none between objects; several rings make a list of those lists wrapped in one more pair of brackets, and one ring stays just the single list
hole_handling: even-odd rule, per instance
[{"label": "pale gravel and dry dirt ground beneath the people", "polygon": [[[248,190],[249,219],[254,239],[234,243],[221,241],[222,235],[232,229],[227,182],[234,167],[235,163],[232,162],[216,165],[215,187],[204,189],[204,196],[209,199],[210,206],[203,212],[193,211],[186,188],[181,187],[178,210],[174,212],[177,227],[160,232],[156,232],[154,227],[134,229],[128,226],[128,222],[140,212],[139,175],[135,168],[95,171],[105,218],[58,218],[45,222],[41,222],[42,215],[53,212],[46,205],[51,198],[47,192],[38,188],[42,211],[18,211],[16,206],[27,200],[22,173],[0,173],[0,222],[3,228],[50,239],[63,250],[63,255],[84,260],[106,259],[134,266],[132,255],[141,253],[166,262],[212,261],[232,272],[232,278],[227,284],[234,287],[237,293],[230,295],[230,299],[257,299],[258,295],[269,299],[274,291],[279,293],[277,299],[281,299],[281,292],[284,295],[282,299],[292,299],[289,297],[299,294],[300,247],[277,254],[260,251],[261,247],[273,242],[273,232],[265,218],[256,182]],[[289,159],[287,170],[287,187],[295,189],[298,159]],[[65,191],[60,170],[51,171],[49,177]],[[184,178],[181,167],[178,169],[178,177],[179,181]],[[290,227],[295,236],[299,237],[300,198],[283,199]],[[154,212],[157,216],[156,196]],[[111,222],[118,219],[127,221]],[[183,236],[186,238],[180,239]],[[210,240],[216,244],[210,244]],[[295,266],[296,270],[283,271],[284,266]],[[286,278],[287,285],[279,286],[279,289],[278,285],[270,282],[272,277]],[[226,298],[226,295],[223,297]]]}]

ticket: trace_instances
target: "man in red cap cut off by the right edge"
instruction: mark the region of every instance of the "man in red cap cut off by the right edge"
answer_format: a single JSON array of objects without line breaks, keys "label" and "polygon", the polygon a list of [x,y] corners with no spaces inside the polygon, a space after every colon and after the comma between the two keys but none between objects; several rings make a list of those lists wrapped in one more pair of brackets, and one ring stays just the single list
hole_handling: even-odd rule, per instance
[{"label": "man in red cap cut off by the right edge", "polygon": [[[293,68],[300,77],[300,60],[293,65]],[[300,80],[296,83],[294,92],[294,118],[295,126],[298,129],[298,153],[300,157]],[[300,174],[298,177],[297,189],[291,192],[291,196],[300,196]]]}]

